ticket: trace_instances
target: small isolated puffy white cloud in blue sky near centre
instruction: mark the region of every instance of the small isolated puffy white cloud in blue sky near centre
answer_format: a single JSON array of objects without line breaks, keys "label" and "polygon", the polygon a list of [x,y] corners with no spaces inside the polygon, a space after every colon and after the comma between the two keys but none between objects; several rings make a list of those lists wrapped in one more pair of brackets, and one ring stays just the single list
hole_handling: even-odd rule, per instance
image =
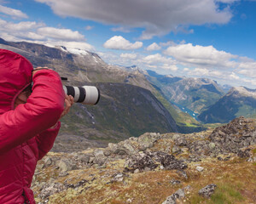
[{"label": "small isolated puffy white cloud in blue sky near centre", "polygon": [[111,49],[137,49],[143,47],[143,42],[134,42],[131,43],[126,40],[124,37],[121,36],[114,36],[111,37],[107,42],[103,44],[104,48],[111,48]]}]

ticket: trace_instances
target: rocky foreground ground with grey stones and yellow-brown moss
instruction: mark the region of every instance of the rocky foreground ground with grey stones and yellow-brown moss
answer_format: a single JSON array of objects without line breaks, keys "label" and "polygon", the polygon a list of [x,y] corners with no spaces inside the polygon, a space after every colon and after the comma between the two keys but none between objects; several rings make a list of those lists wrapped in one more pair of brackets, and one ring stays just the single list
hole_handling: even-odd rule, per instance
[{"label": "rocky foreground ground with grey stones and yellow-brown moss", "polygon": [[201,133],[144,133],[107,148],[49,152],[38,203],[256,203],[256,121]]}]

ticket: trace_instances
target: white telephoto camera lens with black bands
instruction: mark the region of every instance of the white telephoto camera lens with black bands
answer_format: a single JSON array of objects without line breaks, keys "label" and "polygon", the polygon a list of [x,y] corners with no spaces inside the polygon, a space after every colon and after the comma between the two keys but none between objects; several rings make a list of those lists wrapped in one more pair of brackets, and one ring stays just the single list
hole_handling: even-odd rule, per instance
[{"label": "white telephoto camera lens with black bands", "polygon": [[67,95],[72,95],[74,102],[84,105],[96,105],[101,97],[100,90],[94,86],[63,86]]}]

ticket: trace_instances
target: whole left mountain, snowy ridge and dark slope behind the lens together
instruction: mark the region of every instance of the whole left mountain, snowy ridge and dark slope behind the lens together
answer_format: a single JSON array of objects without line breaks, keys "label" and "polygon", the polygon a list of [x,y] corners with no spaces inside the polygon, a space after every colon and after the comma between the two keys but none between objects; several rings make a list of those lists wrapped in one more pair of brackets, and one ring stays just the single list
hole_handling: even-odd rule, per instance
[{"label": "whole left mountain, snowy ridge and dark slope behind the lens together", "polygon": [[100,88],[102,97],[98,105],[73,105],[62,119],[54,150],[65,151],[68,146],[78,150],[105,146],[148,131],[186,133],[202,129],[199,122],[170,105],[148,82],[145,73],[135,67],[108,65],[97,54],[79,49],[49,48],[3,39],[0,48],[25,56],[34,67],[48,66],[57,71],[61,77],[68,78],[63,82],[65,85]]}]

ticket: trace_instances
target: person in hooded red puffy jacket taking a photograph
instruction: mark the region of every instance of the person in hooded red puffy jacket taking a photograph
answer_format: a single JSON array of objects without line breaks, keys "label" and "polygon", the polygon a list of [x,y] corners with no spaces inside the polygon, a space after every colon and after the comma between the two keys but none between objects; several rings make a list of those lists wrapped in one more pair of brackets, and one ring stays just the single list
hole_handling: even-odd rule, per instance
[{"label": "person in hooded red puffy jacket taking a photograph", "polygon": [[0,204],[35,203],[30,186],[37,162],[71,105],[55,71],[33,70],[20,54],[0,49]]}]

